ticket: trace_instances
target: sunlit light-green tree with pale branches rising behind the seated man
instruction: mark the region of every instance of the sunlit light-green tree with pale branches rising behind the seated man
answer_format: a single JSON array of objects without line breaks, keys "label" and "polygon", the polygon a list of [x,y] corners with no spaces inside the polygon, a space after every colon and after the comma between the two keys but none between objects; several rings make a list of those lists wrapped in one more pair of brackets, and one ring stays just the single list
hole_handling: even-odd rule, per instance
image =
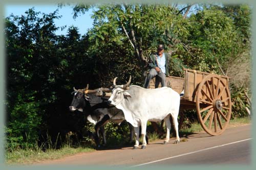
[{"label": "sunlit light-green tree with pale branches rising behind the seated man", "polygon": [[[88,7],[77,5],[74,16]],[[189,10],[190,6],[188,6]],[[134,56],[141,62],[147,63],[147,56],[159,42],[173,43],[173,34],[178,33],[174,28],[182,19],[172,5],[127,5],[96,6],[94,11],[94,27],[98,28],[96,38],[103,40],[110,34],[120,35],[129,42]],[[187,10],[187,11],[188,11]],[[184,14],[184,17],[187,12]],[[113,30],[109,32],[109,30]],[[186,32],[179,28],[179,34]],[[118,36],[119,37],[119,36]],[[113,39],[114,40],[114,39]],[[118,41],[117,39],[115,41]],[[119,40],[120,41],[120,40]]]}]

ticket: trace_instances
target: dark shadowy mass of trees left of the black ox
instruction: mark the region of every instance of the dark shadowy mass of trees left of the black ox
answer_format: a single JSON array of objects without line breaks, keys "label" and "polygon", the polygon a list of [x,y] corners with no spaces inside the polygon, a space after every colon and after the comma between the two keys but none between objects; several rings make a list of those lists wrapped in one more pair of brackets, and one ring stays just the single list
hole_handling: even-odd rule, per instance
[{"label": "dark shadowy mass of trees left of the black ox", "polygon": [[6,18],[7,147],[32,147],[37,139],[49,146],[48,137],[57,141],[60,133],[65,140],[69,126],[79,129],[76,125],[85,123],[81,116],[68,114],[67,109],[71,82],[82,79],[74,74],[79,68],[74,67],[74,58],[82,60],[83,41],[74,27],[66,37],[55,35],[57,11],[40,15],[29,9],[26,15]]}]

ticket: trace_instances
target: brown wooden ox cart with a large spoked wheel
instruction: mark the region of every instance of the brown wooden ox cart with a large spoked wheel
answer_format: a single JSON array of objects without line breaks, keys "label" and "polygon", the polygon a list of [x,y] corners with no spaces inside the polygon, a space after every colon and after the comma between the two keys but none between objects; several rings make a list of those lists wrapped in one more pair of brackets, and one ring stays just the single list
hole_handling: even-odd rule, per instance
[{"label": "brown wooden ox cart with a large spoked wheel", "polygon": [[[178,93],[184,89],[180,99],[181,112],[196,109],[202,128],[210,135],[220,135],[231,117],[228,79],[226,76],[184,69],[184,78],[169,76],[166,82],[170,81],[170,87]],[[150,82],[150,88],[155,88],[155,79]]]}]

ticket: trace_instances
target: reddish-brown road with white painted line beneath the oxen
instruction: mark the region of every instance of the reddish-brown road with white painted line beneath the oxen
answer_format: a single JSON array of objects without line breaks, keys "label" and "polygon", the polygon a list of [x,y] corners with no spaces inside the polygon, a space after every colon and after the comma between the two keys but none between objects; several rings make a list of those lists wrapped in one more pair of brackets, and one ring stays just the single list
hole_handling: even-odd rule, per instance
[{"label": "reddish-brown road with white painted line beneath the oxen", "polygon": [[145,150],[132,147],[81,153],[58,160],[45,161],[40,165],[122,165],[145,167],[170,164],[250,164],[251,126],[229,127],[220,136],[205,132],[182,137],[184,142],[168,144],[158,140]]}]

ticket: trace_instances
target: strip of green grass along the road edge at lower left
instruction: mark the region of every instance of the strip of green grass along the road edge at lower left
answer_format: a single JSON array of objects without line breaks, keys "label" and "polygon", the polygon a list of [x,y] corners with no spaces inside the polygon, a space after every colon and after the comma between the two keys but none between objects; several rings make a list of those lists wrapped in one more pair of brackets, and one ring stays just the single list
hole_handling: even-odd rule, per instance
[{"label": "strip of green grass along the road edge at lower left", "polygon": [[59,159],[63,156],[74,155],[81,152],[91,152],[94,149],[91,148],[71,148],[69,146],[63,147],[59,150],[50,149],[46,152],[40,149],[36,150],[23,150],[16,149],[12,152],[6,152],[6,163],[7,164],[32,164],[44,160]]}]

